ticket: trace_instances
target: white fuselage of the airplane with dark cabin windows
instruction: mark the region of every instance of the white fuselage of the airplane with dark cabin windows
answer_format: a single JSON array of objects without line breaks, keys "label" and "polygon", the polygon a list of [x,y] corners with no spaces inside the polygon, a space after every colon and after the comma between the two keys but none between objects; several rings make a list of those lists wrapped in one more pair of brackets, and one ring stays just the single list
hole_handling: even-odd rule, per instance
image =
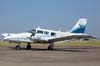
[{"label": "white fuselage of the airplane with dark cabin windows", "polygon": [[[36,28],[34,32],[24,32],[5,36],[4,40],[15,42],[48,42],[49,39],[76,35],[77,33],[61,32]],[[34,35],[32,35],[34,33]],[[80,34],[80,33],[78,33]],[[81,34],[80,34],[81,35]]]}]

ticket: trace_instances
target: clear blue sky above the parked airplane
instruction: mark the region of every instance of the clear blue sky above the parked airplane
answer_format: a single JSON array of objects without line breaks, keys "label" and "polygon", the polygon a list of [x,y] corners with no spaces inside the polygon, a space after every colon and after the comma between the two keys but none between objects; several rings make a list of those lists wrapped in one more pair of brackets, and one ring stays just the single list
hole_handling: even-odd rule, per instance
[{"label": "clear blue sky above the parked airplane", "polygon": [[88,20],[87,34],[100,36],[100,0],[0,0],[0,34],[38,26],[66,31],[80,17]]}]

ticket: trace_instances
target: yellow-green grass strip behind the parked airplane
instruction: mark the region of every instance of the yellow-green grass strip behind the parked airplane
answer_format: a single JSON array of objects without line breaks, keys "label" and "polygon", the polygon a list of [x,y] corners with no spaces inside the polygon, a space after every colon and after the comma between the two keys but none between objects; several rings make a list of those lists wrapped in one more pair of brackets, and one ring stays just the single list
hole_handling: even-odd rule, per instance
[{"label": "yellow-green grass strip behind the parked airplane", "polygon": [[[16,45],[15,43],[0,41],[0,46],[13,47],[15,45]],[[22,43],[21,46],[26,46],[26,43]],[[43,46],[48,46],[48,44],[32,43],[32,46],[43,47]],[[100,40],[60,42],[60,43],[55,43],[55,46],[98,46],[100,47]]]}]

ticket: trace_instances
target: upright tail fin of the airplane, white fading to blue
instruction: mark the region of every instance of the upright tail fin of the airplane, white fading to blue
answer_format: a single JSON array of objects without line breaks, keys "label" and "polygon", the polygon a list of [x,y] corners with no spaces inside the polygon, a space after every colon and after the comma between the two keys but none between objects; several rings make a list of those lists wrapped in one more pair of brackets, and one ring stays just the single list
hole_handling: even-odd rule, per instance
[{"label": "upright tail fin of the airplane, white fading to blue", "polygon": [[69,31],[71,33],[84,33],[87,24],[86,18],[80,18],[75,26]]}]

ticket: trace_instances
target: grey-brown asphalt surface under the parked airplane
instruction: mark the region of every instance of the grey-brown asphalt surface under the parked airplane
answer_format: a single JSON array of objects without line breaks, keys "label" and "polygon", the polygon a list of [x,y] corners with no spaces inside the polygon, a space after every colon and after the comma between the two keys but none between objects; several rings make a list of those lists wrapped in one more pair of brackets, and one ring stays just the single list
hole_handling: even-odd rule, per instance
[{"label": "grey-brown asphalt surface under the parked airplane", "polygon": [[56,47],[15,50],[0,47],[0,66],[100,66],[100,47]]}]

